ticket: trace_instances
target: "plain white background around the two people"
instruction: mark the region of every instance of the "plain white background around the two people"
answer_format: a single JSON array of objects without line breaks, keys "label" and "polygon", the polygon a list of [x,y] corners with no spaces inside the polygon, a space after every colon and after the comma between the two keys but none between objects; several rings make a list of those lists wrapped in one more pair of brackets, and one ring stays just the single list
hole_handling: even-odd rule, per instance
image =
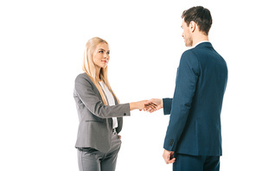
[{"label": "plain white background around the two people", "polygon": [[[109,42],[109,79],[121,103],[172,98],[186,48],[182,11],[210,9],[209,39],[227,61],[221,170],[255,166],[255,2],[65,1],[0,3],[0,170],[78,170],[74,79],[86,41]],[[171,170],[163,161],[169,116],[131,111],[117,171]]]}]

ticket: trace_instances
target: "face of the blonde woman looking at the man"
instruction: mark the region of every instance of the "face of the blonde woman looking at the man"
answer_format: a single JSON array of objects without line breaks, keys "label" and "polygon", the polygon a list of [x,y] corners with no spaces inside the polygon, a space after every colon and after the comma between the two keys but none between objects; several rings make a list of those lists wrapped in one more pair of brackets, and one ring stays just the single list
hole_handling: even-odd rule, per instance
[{"label": "face of the blonde woman looking at the man", "polygon": [[108,48],[108,45],[106,43],[99,44],[93,56],[93,62],[95,66],[99,67],[99,69],[101,67],[105,68],[110,59],[109,54],[110,54],[110,50]]}]

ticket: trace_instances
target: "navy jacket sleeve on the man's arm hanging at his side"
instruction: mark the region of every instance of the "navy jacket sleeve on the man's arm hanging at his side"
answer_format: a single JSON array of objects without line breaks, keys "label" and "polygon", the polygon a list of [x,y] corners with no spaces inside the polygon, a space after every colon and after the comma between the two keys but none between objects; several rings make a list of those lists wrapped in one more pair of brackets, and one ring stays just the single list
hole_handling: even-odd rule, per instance
[{"label": "navy jacket sleeve on the man's arm hanging at his side", "polygon": [[184,130],[199,73],[198,60],[191,51],[182,54],[176,75],[176,89],[170,113],[170,123],[164,139],[163,148],[175,151]]}]

